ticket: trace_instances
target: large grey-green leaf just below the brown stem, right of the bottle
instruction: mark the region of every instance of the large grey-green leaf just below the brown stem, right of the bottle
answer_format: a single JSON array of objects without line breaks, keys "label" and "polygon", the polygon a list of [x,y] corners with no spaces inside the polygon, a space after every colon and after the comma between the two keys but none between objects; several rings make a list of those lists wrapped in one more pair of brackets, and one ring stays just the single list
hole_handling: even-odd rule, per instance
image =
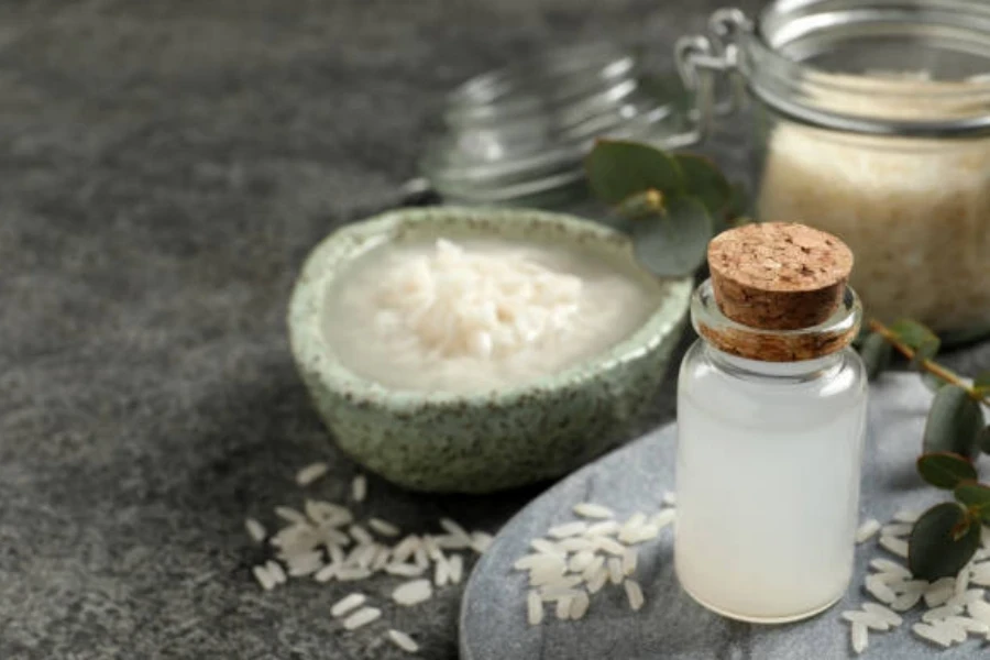
[{"label": "large grey-green leaf just below the brown stem, right of the bottle", "polygon": [[935,394],[928,410],[923,450],[972,459],[980,452],[979,436],[985,425],[983,411],[969,393],[958,385],[946,385]]}]

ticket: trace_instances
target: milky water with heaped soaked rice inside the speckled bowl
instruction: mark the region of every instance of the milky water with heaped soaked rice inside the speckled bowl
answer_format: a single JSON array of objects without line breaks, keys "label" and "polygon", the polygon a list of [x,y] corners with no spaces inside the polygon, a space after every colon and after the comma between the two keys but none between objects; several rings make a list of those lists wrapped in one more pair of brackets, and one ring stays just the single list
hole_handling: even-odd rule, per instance
[{"label": "milky water with heaped soaked rice inside the speckled bowl", "polygon": [[591,359],[657,309],[663,285],[587,248],[474,238],[388,243],[328,292],[323,332],[395,389],[524,384]]}]

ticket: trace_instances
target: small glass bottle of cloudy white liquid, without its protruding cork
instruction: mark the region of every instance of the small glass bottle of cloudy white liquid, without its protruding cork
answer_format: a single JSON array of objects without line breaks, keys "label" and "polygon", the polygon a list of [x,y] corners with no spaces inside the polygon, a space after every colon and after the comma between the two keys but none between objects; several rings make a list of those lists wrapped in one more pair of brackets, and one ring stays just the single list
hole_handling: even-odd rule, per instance
[{"label": "small glass bottle of cloudy white liquid, without its protruding cork", "polygon": [[[678,383],[681,585],[741,620],[822,612],[851,579],[859,515],[867,378],[848,348],[861,318],[856,294],[847,288],[838,310],[815,327],[761,330],[726,317],[707,280],[691,318],[702,339]],[[828,348],[793,362],[729,352],[766,342],[796,348],[783,353],[793,355]]]}]

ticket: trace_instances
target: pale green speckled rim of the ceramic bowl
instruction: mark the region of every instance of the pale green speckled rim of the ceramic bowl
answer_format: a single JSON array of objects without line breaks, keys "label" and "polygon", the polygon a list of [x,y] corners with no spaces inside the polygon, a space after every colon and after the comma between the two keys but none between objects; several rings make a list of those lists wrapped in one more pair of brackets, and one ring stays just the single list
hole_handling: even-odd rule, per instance
[{"label": "pale green speckled rim of the ceramic bowl", "polygon": [[[605,351],[582,360],[560,372],[526,381],[504,388],[455,392],[424,392],[399,389],[365,378],[344,366],[327,346],[319,323],[321,301],[329,282],[343,267],[366,251],[389,240],[389,234],[408,224],[428,223],[431,220],[487,223],[538,223],[556,227],[569,234],[588,237],[593,250],[616,245],[614,254],[628,257],[634,265],[664,287],[657,309],[650,314],[630,336]],[[622,364],[656,350],[664,341],[675,340],[672,334],[682,324],[691,300],[691,277],[662,278],[644,268],[635,258],[631,240],[624,233],[600,222],[568,213],[531,209],[502,209],[485,207],[424,207],[386,211],[365,220],[346,224],[331,232],[306,257],[293,287],[288,306],[289,344],[300,372],[314,373],[320,383],[337,394],[346,396],[352,405],[388,407],[396,411],[410,411],[428,406],[463,408],[465,406],[513,406],[520,399],[580,387],[612,373]]]}]

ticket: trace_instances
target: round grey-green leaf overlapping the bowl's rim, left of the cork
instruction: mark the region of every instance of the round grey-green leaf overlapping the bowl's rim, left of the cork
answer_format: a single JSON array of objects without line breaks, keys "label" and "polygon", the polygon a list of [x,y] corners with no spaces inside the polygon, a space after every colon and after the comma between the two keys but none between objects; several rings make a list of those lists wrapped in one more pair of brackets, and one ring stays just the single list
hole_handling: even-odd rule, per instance
[{"label": "round grey-green leaf overlapping the bowl's rim, left of the cork", "polygon": [[696,199],[674,197],[667,213],[636,221],[631,235],[632,251],[648,270],[661,277],[690,275],[705,261],[712,218]]}]

